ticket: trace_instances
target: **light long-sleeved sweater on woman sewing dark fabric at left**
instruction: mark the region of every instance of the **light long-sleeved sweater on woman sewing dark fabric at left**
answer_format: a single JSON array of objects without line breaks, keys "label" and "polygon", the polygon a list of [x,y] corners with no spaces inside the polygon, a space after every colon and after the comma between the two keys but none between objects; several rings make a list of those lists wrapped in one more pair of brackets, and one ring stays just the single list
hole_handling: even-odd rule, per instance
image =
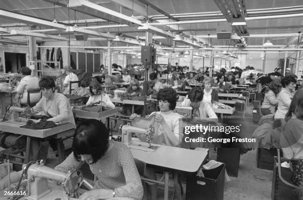
[{"label": "light long-sleeved sweater on woman sewing dark fabric at left", "polygon": [[33,107],[34,113],[39,115],[52,116],[53,122],[75,124],[74,115],[67,98],[60,94],[54,93],[53,98],[42,97],[41,100]]}]

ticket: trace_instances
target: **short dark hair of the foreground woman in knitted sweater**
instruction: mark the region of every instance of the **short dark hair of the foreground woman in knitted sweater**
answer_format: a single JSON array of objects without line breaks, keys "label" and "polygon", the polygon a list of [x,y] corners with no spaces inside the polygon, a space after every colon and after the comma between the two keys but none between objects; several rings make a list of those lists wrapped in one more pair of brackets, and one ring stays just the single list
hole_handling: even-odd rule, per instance
[{"label": "short dark hair of the foreground woman in knitted sweater", "polygon": [[95,162],[98,161],[108,149],[108,130],[97,119],[84,119],[75,129],[73,140],[73,153],[77,161],[81,154],[91,154]]}]

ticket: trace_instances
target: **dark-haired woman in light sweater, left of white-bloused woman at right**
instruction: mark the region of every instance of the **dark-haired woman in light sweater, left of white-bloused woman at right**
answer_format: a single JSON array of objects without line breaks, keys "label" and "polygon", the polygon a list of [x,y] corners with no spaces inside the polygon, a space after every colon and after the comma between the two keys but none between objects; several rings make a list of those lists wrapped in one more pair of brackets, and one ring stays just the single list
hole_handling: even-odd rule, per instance
[{"label": "dark-haired woman in light sweater, left of white-bloused woman at right", "polygon": [[275,108],[279,102],[276,95],[280,92],[281,86],[281,81],[275,79],[270,82],[269,86],[265,89],[264,100],[261,105],[261,112],[263,115],[275,113]]}]

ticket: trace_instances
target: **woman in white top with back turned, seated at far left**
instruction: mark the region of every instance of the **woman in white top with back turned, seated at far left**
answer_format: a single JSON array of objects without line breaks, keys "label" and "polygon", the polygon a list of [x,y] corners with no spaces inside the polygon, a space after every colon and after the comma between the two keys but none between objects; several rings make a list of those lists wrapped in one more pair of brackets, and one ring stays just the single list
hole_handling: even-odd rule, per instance
[{"label": "woman in white top with back turned, seated at far left", "polygon": [[[17,94],[13,96],[13,103],[21,106],[21,104],[27,103],[27,90],[39,89],[40,79],[36,76],[32,76],[32,70],[28,67],[21,67],[21,80],[16,88]],[[30,94],[30,102],[37,102],[41,99],[40,93]]]}]

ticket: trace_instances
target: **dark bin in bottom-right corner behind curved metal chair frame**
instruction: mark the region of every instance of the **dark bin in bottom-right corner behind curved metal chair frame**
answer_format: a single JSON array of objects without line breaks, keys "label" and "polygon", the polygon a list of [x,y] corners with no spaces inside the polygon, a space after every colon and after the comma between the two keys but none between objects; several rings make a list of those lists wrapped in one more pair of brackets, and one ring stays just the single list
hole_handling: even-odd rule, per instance
[{"label": "dark bin in bottom-right corner behind curved metal chair frame", "polygon": [[[290,168],[281,167],[281,175],[284,180],[292,183],[292,171]],[[278,163],[275,157],[272,174],[271,200],[298,200],[297,189],[286,185],[279,178]]]}]

